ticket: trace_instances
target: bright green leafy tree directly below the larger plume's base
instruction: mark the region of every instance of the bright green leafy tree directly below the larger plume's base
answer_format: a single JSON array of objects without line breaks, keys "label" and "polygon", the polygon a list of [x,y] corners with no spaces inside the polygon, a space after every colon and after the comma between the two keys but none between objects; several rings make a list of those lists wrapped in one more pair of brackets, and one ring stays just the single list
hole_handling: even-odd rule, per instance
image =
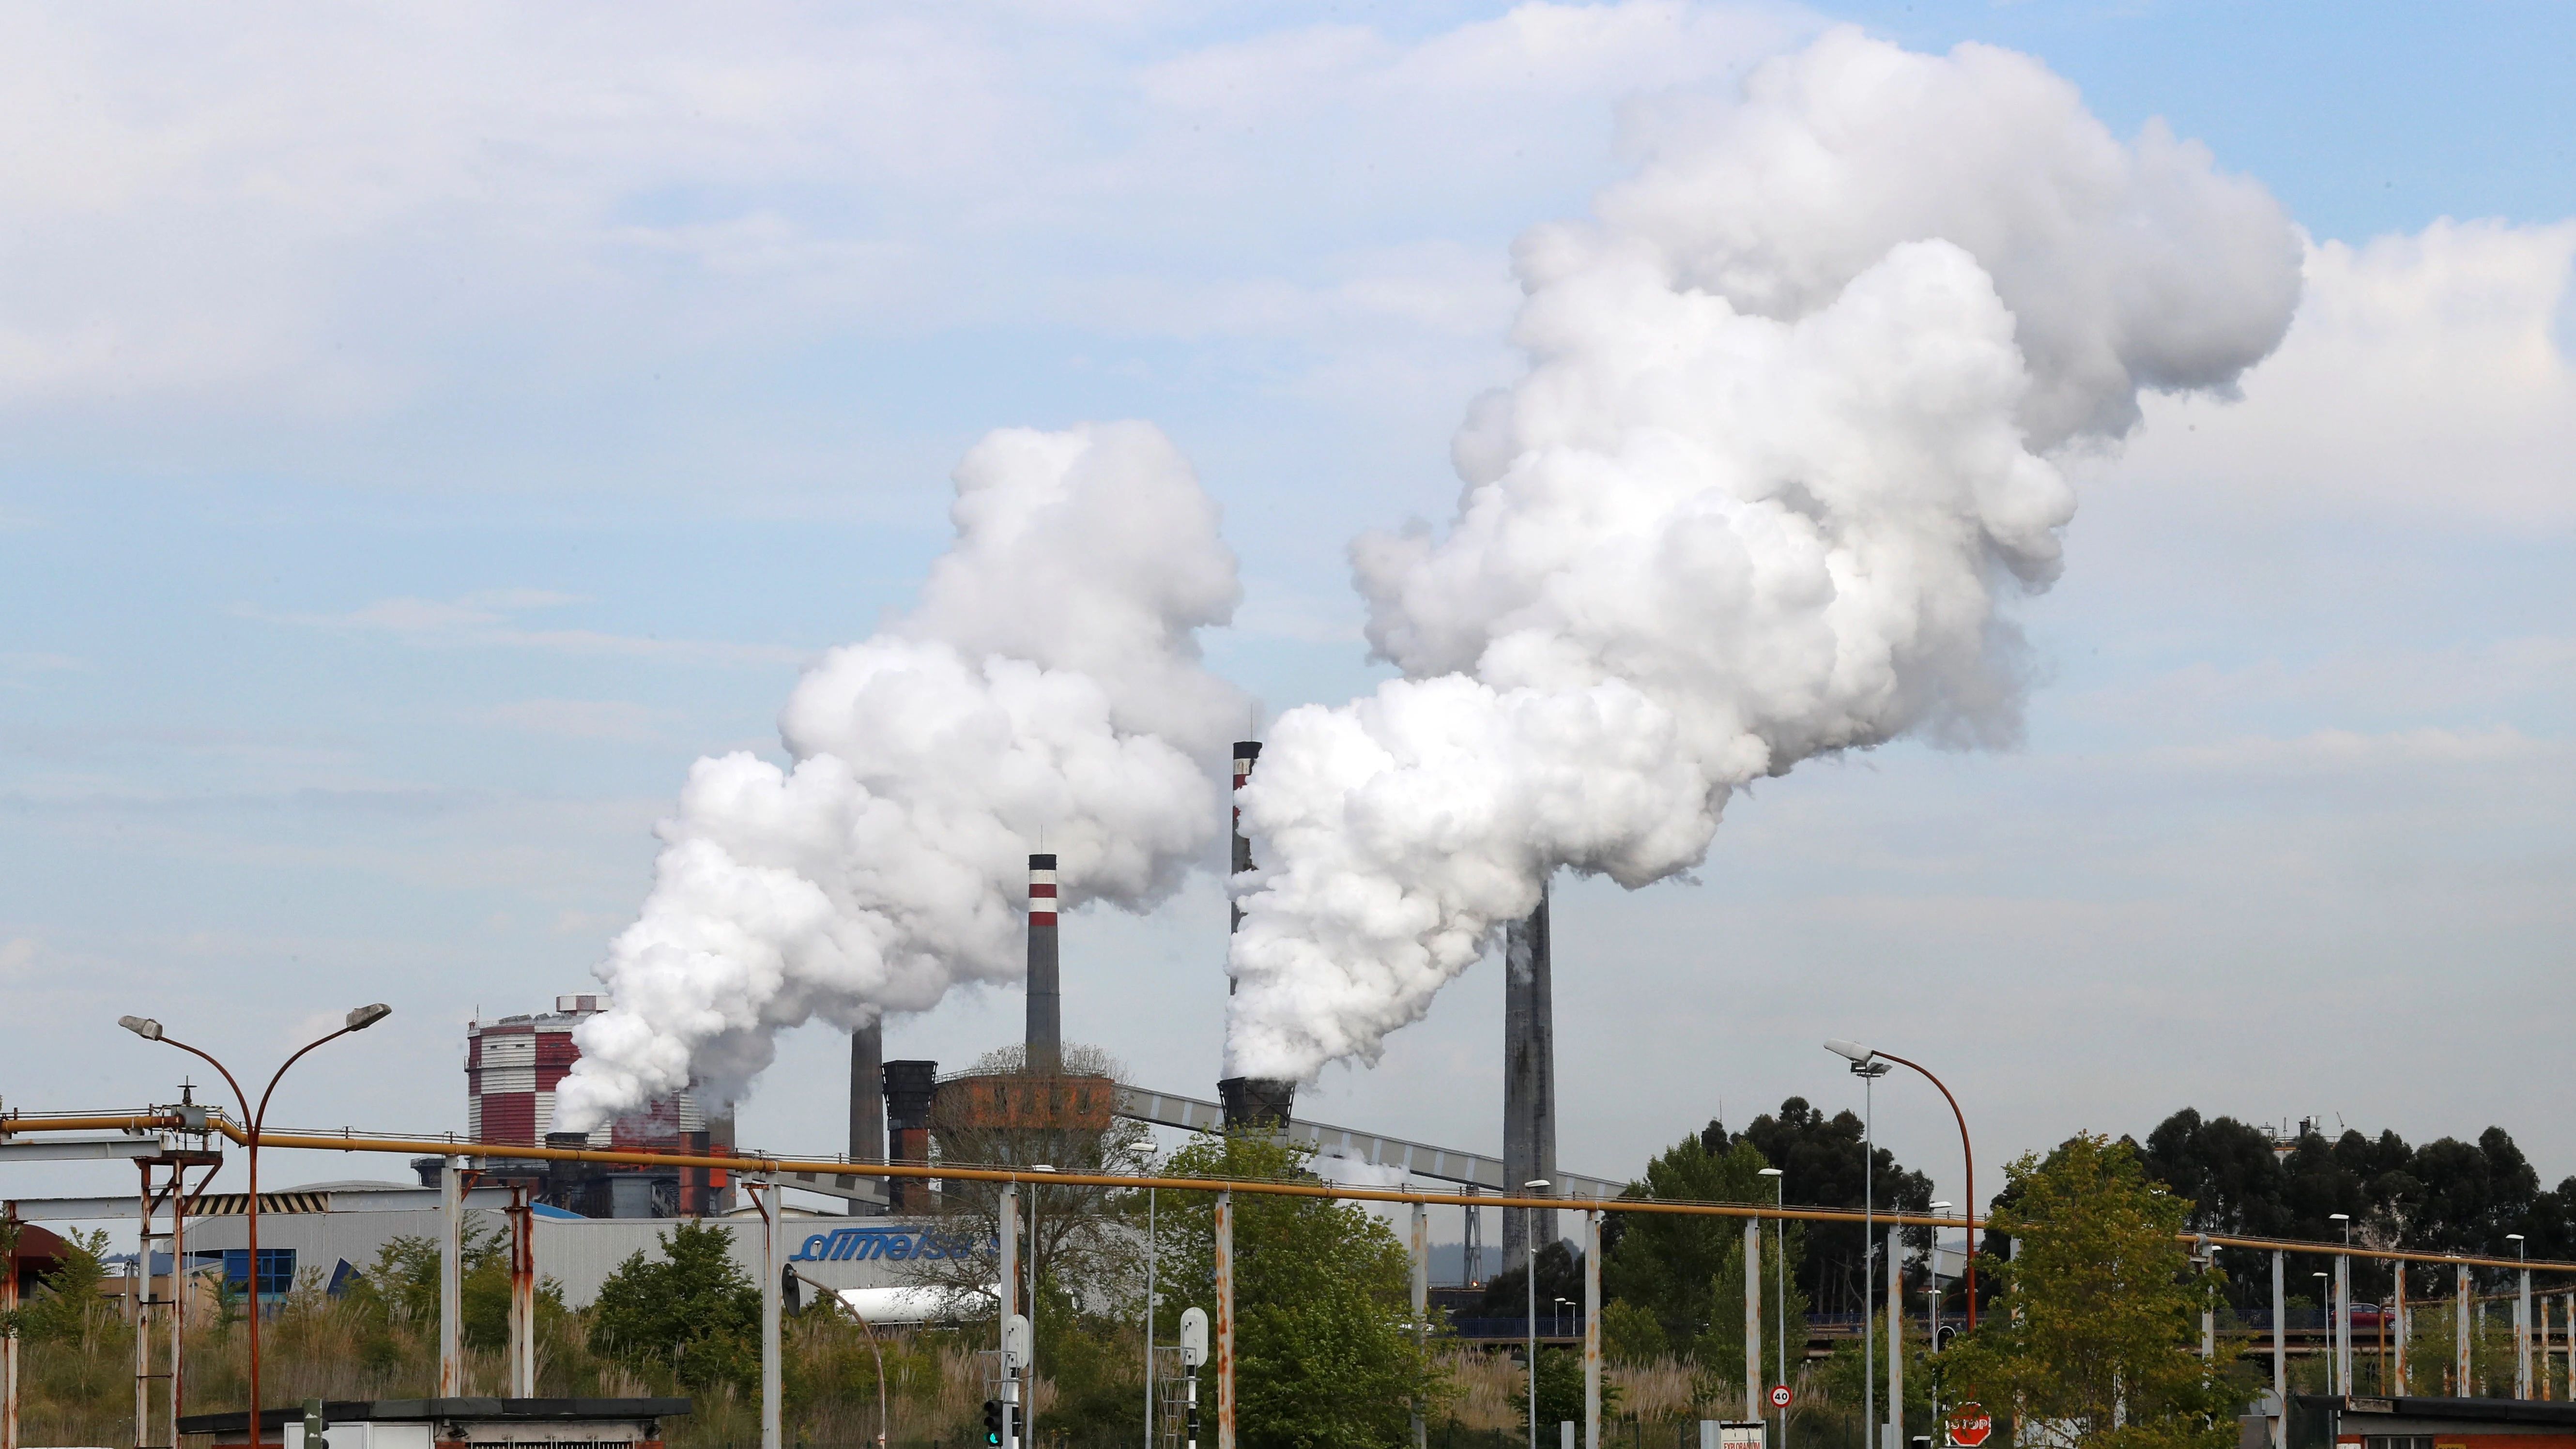
[{"label": "bright green leafy tree directly below the larger plume's base", "polygon": [[[1267,1132],[1200,1135],[1170,1176],[1303,1179],[1309,1148]],[[1177,1202],[1175,1202],[1177,1199]],[[1216,1310],[1216,1199],[1164,1194],[1157,1336],[1180,1310]],[[1234,1199],[1234,1385],[1247,1449],[1368,1449],[1412,1441],[1417,1403],[1448,1398],[1412,1325],[1412,1261],[1394,1230],[1324,1197]]]}]

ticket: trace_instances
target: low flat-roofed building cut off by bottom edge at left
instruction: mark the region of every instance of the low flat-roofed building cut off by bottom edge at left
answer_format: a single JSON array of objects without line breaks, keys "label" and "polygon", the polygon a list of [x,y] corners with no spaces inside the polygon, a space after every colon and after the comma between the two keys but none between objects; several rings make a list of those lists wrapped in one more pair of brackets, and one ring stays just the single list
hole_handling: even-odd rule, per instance
[{"label": "low flat-roofed building cut off by bottom edge at left", "polygon": [[[688,1413],[685,1398],[379,1398],[322,1405],[327,1449],[662,1449],[662,1421]],[[180,1434],[214,1449],[250,1444],[250,1416],[188,1413]],[[304,1410],[260,1413],[260,1441],[304,1446]]]}]

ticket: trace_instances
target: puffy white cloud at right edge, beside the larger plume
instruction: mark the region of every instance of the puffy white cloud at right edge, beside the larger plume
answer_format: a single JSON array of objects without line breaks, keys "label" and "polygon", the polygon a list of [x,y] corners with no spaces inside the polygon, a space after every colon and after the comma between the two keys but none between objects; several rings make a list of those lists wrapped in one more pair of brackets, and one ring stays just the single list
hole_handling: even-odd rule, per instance
[{"label": "puffy white cloud at right edge, beside the larger plume", "polygon": [[2244,401],[2156,399],[2120,471],[2223,512],[2576,520],[2576,221],[2437,221],[2308,250]]}]

